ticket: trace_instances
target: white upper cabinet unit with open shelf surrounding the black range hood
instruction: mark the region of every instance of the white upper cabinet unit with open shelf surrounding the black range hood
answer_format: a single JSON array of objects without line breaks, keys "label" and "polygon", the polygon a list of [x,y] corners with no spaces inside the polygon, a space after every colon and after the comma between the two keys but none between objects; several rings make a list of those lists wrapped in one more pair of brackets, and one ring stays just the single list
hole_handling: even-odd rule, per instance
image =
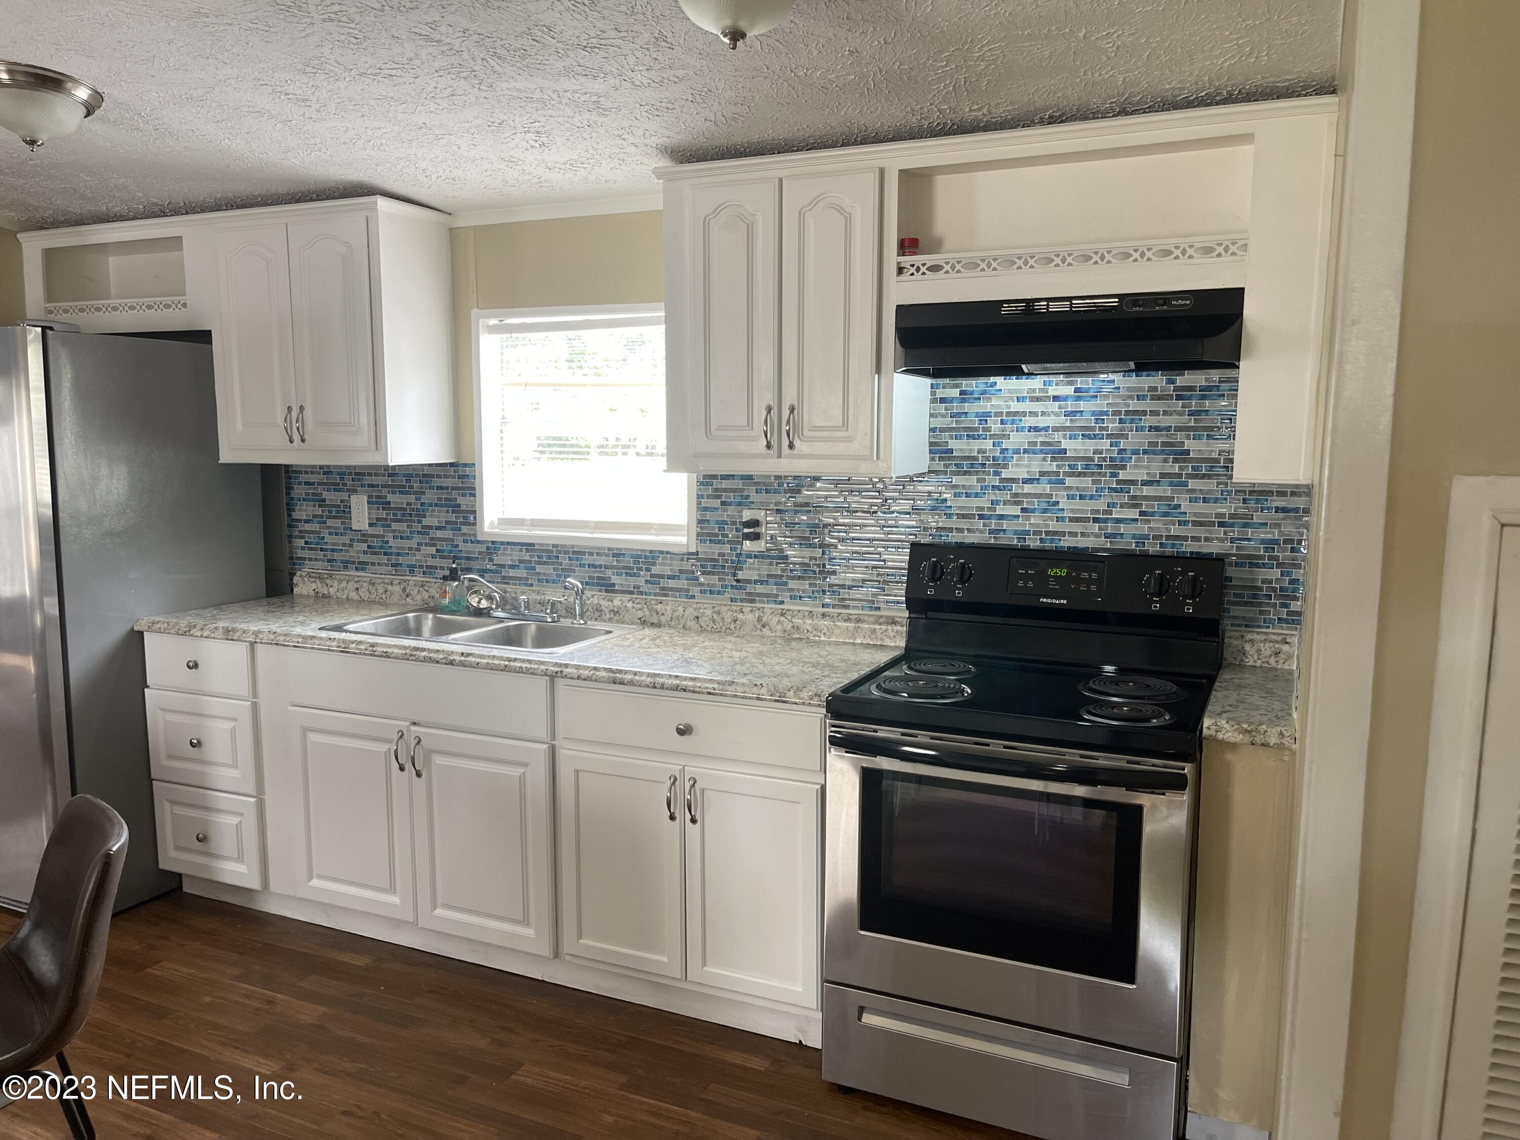
[{"label": "white upper cabinet unit with open shelf surrounding the black range hood", "polygon": [[1310,482],[1336,116],[1283,99],[655,170],[670,470],[927,470],[898,306],[1243,289],[1234,477]]}]

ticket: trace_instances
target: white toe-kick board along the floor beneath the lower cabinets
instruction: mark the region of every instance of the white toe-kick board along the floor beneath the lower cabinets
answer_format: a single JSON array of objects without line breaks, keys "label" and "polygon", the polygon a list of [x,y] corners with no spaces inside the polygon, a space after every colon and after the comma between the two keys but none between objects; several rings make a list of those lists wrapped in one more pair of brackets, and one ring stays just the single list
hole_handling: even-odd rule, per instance
[{"label": "white toe-kick board along the floor beneath the lower cabinets", "polygon": [[553,982],[572,990],[585,990],[603,997],[616,997],[622,1002],[681,1014],[682,1017],[716,1021],[734,1029],[746,1029],[751,1034],[763,1034],[765,1037],[775,1037],[783,1041],[796,1041],[813,1049],[821,1049],[824,1041],[824,1015],[816,1009],[784,1006],[780,1002],[766,1002],[763,997],[728,997],[692,982],[655,980],[640,977],[632,971],[619,971],[616,967],[603,970],[600,965],[588,965],[567,958],[540,958],[538,955],[476,942],[458,935],[424,930],[420,926],[386,918],[385,915],[348,910],[340,906],[316,903],[310,898],[280,895],[271,891],[251,891],[246,886],[228,886],[226,883],[214,883],[210,879],[196,879],[195,876],[184,876],[184,889],[185,894],[216,898],[234,906],[246,906],[251,910],[296,918],[302,923],[315,923],[333,930],[347,930],[351,935],[363,935],[365,938],[406,945],[430,955],[456,958],[462,962],[474,962],[476,965],[503,970],[509,974],[537,977],[543,982]]}]

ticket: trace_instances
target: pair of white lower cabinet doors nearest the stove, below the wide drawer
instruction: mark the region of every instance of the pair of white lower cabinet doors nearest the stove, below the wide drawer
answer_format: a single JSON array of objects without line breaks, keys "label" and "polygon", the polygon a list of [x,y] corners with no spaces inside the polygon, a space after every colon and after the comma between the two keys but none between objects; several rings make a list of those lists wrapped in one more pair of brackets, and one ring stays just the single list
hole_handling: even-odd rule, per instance
[{"label": "pair of white lower cabinet doors nearest the stove, below the wide drawer", "polygon": [[816,1008],[819,793],[561,749],[565,953]]}]

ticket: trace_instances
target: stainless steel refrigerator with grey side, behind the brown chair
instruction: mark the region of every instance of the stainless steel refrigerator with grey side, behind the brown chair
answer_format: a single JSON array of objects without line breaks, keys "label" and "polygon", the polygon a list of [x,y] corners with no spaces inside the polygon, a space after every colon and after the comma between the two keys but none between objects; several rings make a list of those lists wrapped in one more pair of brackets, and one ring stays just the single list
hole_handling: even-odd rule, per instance
[{"label": "stainless steel refrigerator with grey side, behind the brown chair", "polygon": [[264,594],[258,467],[217,462],[208,344],[0,328],[0,901],[24,906],[71,793],[158,869],[138,617]]}]

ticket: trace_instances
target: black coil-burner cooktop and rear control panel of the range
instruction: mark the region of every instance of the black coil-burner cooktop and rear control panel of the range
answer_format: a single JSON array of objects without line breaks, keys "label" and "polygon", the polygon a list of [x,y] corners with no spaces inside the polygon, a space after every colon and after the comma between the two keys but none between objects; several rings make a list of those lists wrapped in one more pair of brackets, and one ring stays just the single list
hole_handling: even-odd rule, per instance
[{"label": "black coil-burner cooktop and rear control panel of the range", "polygon": [[[1052,584],[1029,588],[1035,564]],[[1154,596],[1155,573],[1193,596]],[[830,693],[833,720],[1198,757],[1222,559],[915,544],[909,575],[906,651]]]}]

